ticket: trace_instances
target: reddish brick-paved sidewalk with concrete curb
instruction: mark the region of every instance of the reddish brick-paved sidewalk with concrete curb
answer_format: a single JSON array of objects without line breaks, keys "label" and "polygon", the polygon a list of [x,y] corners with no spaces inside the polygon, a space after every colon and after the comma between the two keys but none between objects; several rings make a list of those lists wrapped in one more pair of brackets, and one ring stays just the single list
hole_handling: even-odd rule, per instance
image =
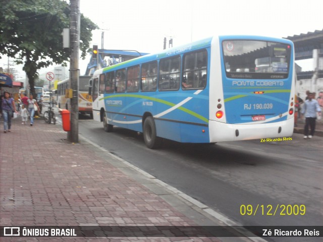
[{"label": "reddish brick-paved sidewalk with concrete curb", "polygon": [[[0,226],[225,225],[197,201],[80,137],[66,141],[60,125],[0,122]],[[149,189],[148,189],[149,188]],[[204,205],[205,206],[205,205]],[[184,215],[185,214],[185,215]],[[1,241],[63,238],[2,237]],[[64,238],[68,241],[192,241],[190,237]],[[194,241],[250,241],[195,237]]]}]

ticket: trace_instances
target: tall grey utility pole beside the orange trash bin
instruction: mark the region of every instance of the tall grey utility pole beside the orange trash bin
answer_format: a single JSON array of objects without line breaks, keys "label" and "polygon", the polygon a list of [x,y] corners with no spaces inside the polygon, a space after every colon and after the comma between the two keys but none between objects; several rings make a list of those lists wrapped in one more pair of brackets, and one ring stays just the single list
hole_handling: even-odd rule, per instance
[{"label": "tall grey utility pole beside the orange trash bin", "polygon": [[72,143],[79,142],[79,124],[78,124],[78,83],[79,83],[79,45],[80,45],[80,0],[70,0],[70,88],[73,90],[71,99],[71,131],[67,138]]}]

